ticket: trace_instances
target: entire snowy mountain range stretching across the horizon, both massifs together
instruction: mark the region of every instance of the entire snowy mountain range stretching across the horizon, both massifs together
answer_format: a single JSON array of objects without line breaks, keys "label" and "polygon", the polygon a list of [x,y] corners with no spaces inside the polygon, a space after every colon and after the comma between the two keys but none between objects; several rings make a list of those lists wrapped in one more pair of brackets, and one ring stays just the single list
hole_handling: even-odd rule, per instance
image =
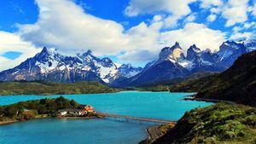
[{"label": "entire snowy mountain range stretching across the horizon, both massifs together", "polygon": [[256,49],[256,40],[239,43],[227,41],[215,53],[192,45],[185,56],[179,43],[175,43],[162,49],[158,60],[142,68],[131,64],[118,67],[109,58],[97,58],[90,50],[76,56],[64,56],[54,49],[44,48],[19,66],[0,72],[0,81],[97,81],[115,87],[138,86],[184,78],[195,72],[223,72],[237,57],[253,49]]}]

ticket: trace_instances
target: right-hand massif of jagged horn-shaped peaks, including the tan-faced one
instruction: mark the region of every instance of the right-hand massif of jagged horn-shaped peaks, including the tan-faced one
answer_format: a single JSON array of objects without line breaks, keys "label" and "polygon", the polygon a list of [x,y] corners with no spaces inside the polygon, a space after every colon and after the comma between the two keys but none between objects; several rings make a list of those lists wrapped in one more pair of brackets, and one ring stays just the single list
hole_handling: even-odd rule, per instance
[{"label": "right-hand massif of jagged horn-shaped peaks, including the tan-faced one", "polygon": [[143,85],[164,82],[172,78],[184,78],[195,72],[223,72],[234,61],[247,52],[255,49],[255,40],[247,43],[224,42],[218,52],[210,49],[201,50],[194,45],[190,46],[187,56],[179,43],[166,47],[160,51],[159,59],[149,62],[143,72],[129,78],[127,85]]}]

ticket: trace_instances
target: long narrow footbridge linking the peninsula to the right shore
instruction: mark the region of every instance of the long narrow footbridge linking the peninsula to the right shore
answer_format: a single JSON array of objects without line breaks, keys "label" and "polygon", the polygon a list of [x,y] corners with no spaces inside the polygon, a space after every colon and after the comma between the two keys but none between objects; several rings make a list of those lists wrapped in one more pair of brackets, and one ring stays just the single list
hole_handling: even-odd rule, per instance
[{"label": "long narrow footbridge linking the peninsula to the right shore", "polygon": [[156,122],[162,124],[176,124],[176,121],[164,120],[164,119],[154,119],[154,118],[139,118],[139,117],[131,117],[125,115],[118,115],[118,114],[111,114],[111,113],[102,113],[96,112],[96,114],[100,117],[109,117],[109,118],[125,118],[125,119],[132,119],[138,121],[145,121],[145,122]]}]

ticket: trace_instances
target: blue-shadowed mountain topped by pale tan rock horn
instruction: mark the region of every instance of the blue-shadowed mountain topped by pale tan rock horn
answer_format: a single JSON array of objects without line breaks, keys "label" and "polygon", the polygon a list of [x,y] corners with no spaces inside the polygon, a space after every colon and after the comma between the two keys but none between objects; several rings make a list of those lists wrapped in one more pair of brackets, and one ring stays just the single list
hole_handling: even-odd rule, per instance
[{"label": "blue-shadowed mountain topped by pale tan rock horn", "polygon": [[143,85],[166,81],[172,78],[183,78],[189,74],[189,70],[181,66],[185,56],[179,46],[175,43],[172,48],[166,47],[160,51],[159,59],[148,63],[143,72],[129,78],[125,83],[127,85]]}]

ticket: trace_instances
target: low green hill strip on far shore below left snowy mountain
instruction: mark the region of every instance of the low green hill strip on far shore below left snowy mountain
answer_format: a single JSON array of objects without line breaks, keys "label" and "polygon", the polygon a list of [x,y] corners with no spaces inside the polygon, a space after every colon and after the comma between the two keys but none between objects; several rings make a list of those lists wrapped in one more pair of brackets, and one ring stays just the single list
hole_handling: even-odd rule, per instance
[{"label": "low green hill strip on far shore below left snowy mountain", "polygon": [[65,95],[95,94],[116,92],[96,82],[79,82],[74,84],[45,82],[9,82],[0,83],[0,95]]}]

